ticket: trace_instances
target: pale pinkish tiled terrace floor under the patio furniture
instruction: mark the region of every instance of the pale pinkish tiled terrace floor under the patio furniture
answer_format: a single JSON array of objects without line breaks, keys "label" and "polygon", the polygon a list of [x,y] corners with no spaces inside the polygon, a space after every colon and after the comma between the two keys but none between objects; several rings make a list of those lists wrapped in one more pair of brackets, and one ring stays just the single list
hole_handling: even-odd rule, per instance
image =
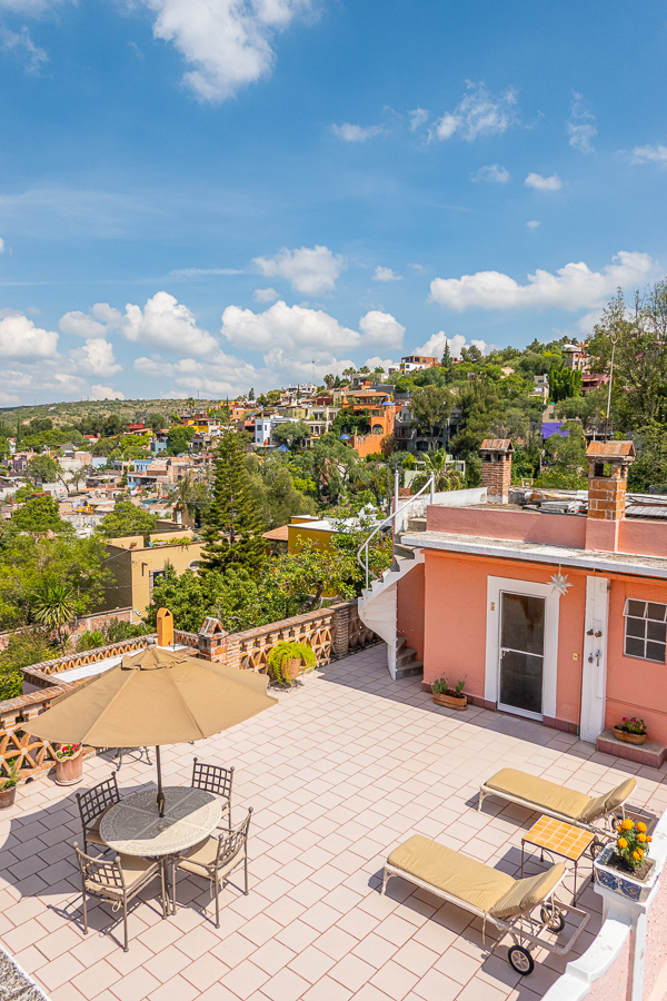
[{"label": "pale pinkish tiled terrace floor under the patio furniture", "polygon": [[[535,973],[520,979],[505,945],[489,958],[480,921],[400,880],[381,898],[387,852],[420,832],[514,874],[534,817],[490,797],[476,811],[480,781],[498,767],[593,794],[634,772],[633,802],[656,814],[667,807],[667,771],[516,717],[435,706],[418,680],[392,682],[384,656],[374,647],[348,657],[248,723],[165,750],[167,783],[189,783],[195,754],[233,764],[235,819],[255,807],[251,892],[225,890],[219,931],[209,889],[181,874],[176,916],[162,921],[157,900],[133,909],[128,954],[106,905],[93,905],[84,938],[74,791],[42,779],[0,814],[0,943],[52,1001],[536,1001],[564,961],[537,953]],[[81,787],[112,765],[100,756],[84,767]],[[121,790],[153,774],[123,763]],[[581,903],[599,910],[590,889]]]}]

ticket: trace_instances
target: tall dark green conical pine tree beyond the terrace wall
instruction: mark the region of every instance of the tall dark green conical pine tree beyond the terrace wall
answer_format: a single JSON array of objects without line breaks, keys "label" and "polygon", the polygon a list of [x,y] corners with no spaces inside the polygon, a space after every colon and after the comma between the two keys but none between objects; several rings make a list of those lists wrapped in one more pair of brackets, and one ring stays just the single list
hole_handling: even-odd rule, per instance
[{"label": "tall dark green conical pine tree beyond the terrace wall", "polygon": [[261,515],[251,494],[239,434],[225,428],[216,457],[212,503],[202,532],[206,569],[257,568],[263,558]]}]

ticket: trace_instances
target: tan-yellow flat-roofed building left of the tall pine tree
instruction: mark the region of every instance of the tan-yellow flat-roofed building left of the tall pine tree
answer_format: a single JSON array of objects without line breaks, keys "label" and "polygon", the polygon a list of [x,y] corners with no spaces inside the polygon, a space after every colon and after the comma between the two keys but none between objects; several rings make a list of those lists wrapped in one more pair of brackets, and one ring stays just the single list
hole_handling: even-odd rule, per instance
[{"label": "tan-yellow flat-roofed building left of the tall pine tree", "polygon": [[136,608],[141,615],[152,601],[156,579],[163,576],[171,565],[178,575],[188,568],[197,569],[203,543],[192,542],[192,531],[158,532],[150,536],[150,545],[143,545],[142,535],[127,535],[107,543],[108,557],[104,569],[115,579],[106,585],[104,597],[98,612],[111,608]]}]

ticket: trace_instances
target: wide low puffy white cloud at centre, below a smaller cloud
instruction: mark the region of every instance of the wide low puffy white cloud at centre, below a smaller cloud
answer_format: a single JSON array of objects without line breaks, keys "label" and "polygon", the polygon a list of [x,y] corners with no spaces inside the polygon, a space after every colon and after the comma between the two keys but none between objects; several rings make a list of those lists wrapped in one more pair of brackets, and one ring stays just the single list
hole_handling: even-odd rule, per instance
[{"label": "wide low puffy white cloud at centre, below a smaller cloud", "polygon": [[[359,328],[361,333],[342,327],[321,309],[287,306],[280,300],[259,314],[228,306],[222,314],[221,334],[231,344],[251,350],[289,351],[295,361],[312,358],[313,354],[335,360],[334,353],[362,350],[365,346],[395,347],[405,334],[398,320],[375,309],[361,317]],[[271,364],[266,355],[265,363]]]}]

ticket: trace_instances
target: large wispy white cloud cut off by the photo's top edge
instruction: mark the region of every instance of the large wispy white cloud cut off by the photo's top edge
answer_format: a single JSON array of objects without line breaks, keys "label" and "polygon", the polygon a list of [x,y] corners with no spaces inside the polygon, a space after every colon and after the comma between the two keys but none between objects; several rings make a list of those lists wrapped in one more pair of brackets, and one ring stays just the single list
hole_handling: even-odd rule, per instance
[{"label": "large wispy white cloud cut off by the photo's top edge", "polygon": [[153,37],[173,42],[186,62],[183,83],[202,101],[220,101],[270,73],[276,31],[309,0],[142,0],[156,13]]}]

